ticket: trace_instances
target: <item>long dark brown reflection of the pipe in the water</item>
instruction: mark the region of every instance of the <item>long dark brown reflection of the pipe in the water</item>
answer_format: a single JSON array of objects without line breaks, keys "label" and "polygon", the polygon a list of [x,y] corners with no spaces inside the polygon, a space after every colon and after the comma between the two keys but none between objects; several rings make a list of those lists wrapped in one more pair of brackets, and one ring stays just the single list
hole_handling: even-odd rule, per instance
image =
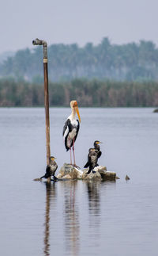
[{"label": "long dark brown reflection of the pipe in the water", "polygon": [[46,213],[45,213],[45,231],[44,231],[44,250],[46,256],[50,255],[50,204],[51,197],[55,197],[55,183],[46,182]]}]

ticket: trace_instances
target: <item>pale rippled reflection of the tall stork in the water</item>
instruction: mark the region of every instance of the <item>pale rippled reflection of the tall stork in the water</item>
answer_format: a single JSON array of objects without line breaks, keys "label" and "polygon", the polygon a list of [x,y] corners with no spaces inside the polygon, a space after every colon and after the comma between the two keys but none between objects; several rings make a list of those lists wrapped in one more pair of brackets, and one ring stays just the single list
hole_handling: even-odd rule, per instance
[{"label": "pale rippled reflection of the tall stork in the water", "polygon": [[75,204],[75,186],[77,181],[65,182],[65,231],[66,250],[73,256],[79,251],[80,224],[77,205]]}]

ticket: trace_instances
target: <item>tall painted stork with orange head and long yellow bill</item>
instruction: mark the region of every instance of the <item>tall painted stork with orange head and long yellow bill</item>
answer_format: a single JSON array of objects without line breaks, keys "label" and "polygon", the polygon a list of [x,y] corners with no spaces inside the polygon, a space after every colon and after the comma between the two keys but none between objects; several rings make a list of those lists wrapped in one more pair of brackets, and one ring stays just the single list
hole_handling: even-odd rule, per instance
[{"label": "tall painted stork with orange head and long yellow bill", "polygon": [[[71,101],[70,107],[72,109],[72,112],[70,116],[67,118],[66,123],[63,127],[62,136],[65,141],[66,151],[70,150],[71,165],[72,165],[71,147],[73,147],[73,165],[76,166],[75,155],[74,155],[74,143],[75,143],[75,140],[77,139],[81,118],[78,110],[77,101]],[[79,120],[76,119],[76,113]]]}]

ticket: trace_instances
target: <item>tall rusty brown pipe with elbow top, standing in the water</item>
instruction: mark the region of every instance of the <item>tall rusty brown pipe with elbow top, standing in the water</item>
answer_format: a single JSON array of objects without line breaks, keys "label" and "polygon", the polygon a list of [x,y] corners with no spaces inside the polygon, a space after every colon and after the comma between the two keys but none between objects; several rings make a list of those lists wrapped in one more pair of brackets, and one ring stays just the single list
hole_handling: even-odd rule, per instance
[{"label": "tall rusty brown pipe with elbow top, standing in the water", "polygon": [[[33,45],[43,45],[43,73],[44,73],[44,105],[46,117],[46,149],[47,149],[47,165],[50,163],[50,120],[49,120],[49,92],[48,92],[48,75],[47,75],[47,42],[44,40],[32,41]],[[49,178],[50,181],[50,178]]]}]

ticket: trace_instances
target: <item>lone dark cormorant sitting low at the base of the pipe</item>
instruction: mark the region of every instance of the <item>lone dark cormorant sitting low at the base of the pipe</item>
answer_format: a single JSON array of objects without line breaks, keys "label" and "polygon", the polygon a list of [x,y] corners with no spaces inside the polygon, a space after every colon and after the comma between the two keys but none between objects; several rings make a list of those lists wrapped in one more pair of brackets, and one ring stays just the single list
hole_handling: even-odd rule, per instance
[{"label": "lone dark cormorant sitting low at the base of the pipe", "polygon": [[44,174],[41,178],[49,178],[53,176],[53,181],[57,181],[58,178],[55,177],[55,171],[58,168],[57,163],[55,162],[55,156],[50,157],[50,163],[46,167],[46,174]]}]

